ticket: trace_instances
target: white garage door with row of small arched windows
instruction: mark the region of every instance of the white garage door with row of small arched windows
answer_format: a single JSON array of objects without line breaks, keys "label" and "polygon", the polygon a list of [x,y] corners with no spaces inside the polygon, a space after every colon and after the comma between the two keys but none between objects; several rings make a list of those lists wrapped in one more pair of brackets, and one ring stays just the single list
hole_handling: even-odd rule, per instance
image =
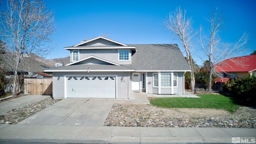
[{"label": "white garage door with row of small arched windows", "polygon": [[115,76],[67,76],[67,98],[116,98]]}]

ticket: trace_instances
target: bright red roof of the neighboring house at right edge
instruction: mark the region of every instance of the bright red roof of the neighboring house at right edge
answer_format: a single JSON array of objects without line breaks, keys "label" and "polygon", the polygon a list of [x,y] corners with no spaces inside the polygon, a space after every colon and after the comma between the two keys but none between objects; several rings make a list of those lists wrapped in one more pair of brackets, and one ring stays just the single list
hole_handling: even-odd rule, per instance
[{"label": "bright red roof of the neighboring house at right edge", "polygon": [[220,62],[216,72],[252,72],[256,70],[256,55],[228,58]]}]

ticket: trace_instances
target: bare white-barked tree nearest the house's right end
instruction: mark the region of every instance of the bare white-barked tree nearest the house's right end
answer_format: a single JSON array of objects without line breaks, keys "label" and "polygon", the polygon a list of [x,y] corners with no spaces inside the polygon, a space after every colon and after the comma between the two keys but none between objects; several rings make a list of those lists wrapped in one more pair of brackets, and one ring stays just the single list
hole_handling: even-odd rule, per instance
[{"label": "bare white-barked tree nearest the house's right end", "polygon": [[183,44],[186,51],[186,60],[192,70],[192,72],[190,72],[190,79],[191,89],[194,91],[195,76],[193,68],[194,61],[191,55],[191,40],[196,35],[196,32],[194,32],[192,24],[192,17],[186,17],[186,10],[183,12],[180,7],[176,8],[174,12],[170,12],[167,16],[167,20],[164,21],[166,28],[173,32]]}]

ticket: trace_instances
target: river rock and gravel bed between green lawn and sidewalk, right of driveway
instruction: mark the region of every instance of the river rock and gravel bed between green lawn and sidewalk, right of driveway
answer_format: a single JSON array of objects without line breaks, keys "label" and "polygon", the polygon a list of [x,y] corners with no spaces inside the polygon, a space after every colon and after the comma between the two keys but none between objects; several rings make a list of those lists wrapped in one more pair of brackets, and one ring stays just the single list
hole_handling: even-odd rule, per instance
[{"label": "river rock and gravel bed between green lawn and sidewalk, right of driveway", "polygon": [[[246,113],[255,117],[254,109],[243,107],[240,111],[249,111]],[[200,117],[151,105],[114,104],[104,126],[256,128],[255,118],[243,117],[243,114]]]}]

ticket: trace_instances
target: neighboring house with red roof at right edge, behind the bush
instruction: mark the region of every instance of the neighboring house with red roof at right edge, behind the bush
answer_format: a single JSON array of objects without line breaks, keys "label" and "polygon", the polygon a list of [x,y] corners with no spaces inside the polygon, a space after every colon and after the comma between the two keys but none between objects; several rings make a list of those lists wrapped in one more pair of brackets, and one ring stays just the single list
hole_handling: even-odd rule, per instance
[{"label": "neighboring house with red roof at right edge, behind the bush", "polygon": [[256,76],[256,55],[240,56],[223,60],[215,68],[218,74],[215,82],[227,82],[231,78]]}]

